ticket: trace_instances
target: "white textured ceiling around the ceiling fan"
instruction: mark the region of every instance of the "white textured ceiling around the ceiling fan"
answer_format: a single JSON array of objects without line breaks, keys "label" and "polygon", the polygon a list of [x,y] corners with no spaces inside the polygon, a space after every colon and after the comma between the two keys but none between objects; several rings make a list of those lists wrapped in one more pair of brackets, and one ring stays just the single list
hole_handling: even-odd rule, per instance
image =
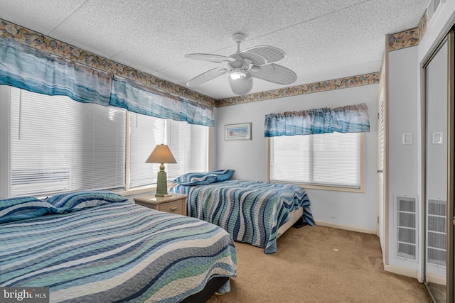
[{"label": "white textured ceiling around the ceiling fan", "polygon": [[[272,45],[296,82],[254,79],[253,92],[380,70],[385,35],[416,28],[429,0],[0,0],[0,18],[186,87],[223,65],[187,53],[229,56]],[[191,87],[214,99],[234,97],[228,75]]]}]

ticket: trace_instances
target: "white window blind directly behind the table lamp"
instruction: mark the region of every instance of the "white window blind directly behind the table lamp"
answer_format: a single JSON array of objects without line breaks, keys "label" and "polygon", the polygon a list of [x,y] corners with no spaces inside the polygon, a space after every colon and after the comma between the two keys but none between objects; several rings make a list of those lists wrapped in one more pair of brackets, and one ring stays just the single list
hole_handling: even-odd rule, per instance
[{"label": "white window blind directly behind the table lamp", "polygon": [[177,163],[164,164],[168,180],[186,172],[205,172],[208,168],[208,127],[130,115],[130,188],[156,183],[158,163],[146,163],[157,144],[167,144]]}]

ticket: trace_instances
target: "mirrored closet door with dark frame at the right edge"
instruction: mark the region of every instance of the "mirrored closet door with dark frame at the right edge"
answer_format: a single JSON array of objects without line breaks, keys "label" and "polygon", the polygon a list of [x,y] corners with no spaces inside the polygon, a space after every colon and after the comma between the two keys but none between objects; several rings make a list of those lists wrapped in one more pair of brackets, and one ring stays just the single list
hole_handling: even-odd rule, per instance
[{"label": "mirrored closet door with dark frame at the right edge", "polygon": [[[452,302],[453,33],[425,65],[425,281],[435,302]],[[452,122],[451,122],[452,121]]]}]

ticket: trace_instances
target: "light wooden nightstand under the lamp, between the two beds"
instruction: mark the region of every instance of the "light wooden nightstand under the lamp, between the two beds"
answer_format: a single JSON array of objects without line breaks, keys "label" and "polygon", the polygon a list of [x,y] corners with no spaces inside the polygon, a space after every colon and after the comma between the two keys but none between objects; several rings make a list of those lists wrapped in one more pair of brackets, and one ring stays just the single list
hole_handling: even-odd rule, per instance
[{"label": "light wooden nightstand under the lamp, between the two beds", "polygon": [[186,216],[187,197],[186,194],[172,194],[171,197],[155,197],[154,194],[149,194],[148,196],[134,198],[134,202],[149,207],[149,209]]}]

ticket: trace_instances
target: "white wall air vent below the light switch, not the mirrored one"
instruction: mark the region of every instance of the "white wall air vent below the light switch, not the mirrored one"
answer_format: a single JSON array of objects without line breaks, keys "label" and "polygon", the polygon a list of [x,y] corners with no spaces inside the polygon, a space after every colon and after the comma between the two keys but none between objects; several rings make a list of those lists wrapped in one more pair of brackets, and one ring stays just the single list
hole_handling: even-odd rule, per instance
[{"label": "white wall air vent below the light switch, not the mirrored one", "polygon": [[417,256],[416,198],[396,197],[395,227],[397,257],[416,260]]}]

